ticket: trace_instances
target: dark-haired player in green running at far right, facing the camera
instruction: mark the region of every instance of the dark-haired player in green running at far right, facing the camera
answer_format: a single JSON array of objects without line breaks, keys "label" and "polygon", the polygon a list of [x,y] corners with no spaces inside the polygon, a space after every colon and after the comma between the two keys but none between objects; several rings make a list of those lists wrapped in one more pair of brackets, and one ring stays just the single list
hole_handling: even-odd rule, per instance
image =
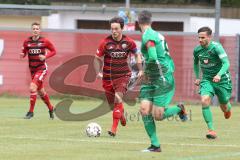
[{"label": "dark-haired player in green running at far right, facing the camera", "polygon": [[[228,56],[222,45],[212,41],[212,30],[202,27],[198,30],[200,45],[194,48],[194,73],[196,75],[195,85],[200,86],[202,103],[202,114],[207,123],[208,139],[215,139],[217,134],[213,127],[212,112],[210,110],[211,99],[214,95],[218,97],[224,117],[231,116],[231,104],[229,99],[232,94],[231,75],[229,73]],[[200,80],[199,70],[202,78]]]}]

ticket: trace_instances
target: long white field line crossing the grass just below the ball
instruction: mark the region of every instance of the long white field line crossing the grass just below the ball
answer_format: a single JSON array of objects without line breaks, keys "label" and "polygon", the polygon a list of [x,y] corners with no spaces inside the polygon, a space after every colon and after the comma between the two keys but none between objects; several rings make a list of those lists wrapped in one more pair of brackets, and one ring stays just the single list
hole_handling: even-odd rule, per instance
[{"label": "long white field line crossing the grass just below the ball", "polygon": [[[88,139],[73,139],[73,138],[48,138],[48,137],[27,137],[27,136],[0,136],[0,139],[26,139],[26,140],[38,140],[38,141],[59,141],[59,142],[94,142],[94,143],[116,143],[116,144],[148,144],[148,142],[142,141],[122,141],[122,140],[106,140],[99,137]],[[240,145],[234,144],[192,144],[192,143],[162,143],[163,145],[172,146],[197,146],[197,147],[231,147],[240,148]]]}]

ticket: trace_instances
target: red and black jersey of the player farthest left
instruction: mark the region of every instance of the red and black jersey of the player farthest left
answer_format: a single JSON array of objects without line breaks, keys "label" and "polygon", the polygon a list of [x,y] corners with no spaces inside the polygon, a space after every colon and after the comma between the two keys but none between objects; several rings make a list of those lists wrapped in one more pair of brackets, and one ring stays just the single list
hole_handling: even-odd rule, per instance
[{"label": "red and black jersey of the player farthest left", "polygon": [[[31,73],[40,70],[47,70],[46,59],[56,54],[53,44],[44,37],[33,40],[32,37],[26,39],[23,43],[22,53],[28,55],[29,69]],[[39,55],[45,55],[46,59],[41,61]]]}]

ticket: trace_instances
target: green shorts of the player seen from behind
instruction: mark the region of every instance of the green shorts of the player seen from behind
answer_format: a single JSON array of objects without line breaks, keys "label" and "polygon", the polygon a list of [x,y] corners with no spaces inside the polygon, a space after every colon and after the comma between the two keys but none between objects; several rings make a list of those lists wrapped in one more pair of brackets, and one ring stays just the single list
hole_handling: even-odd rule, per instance
[{"label": "green shorts of the player seen from behind", "polygon": [[140,89],[140,99],[151,101],[158,107],[167,107],[172,101],[174,92],[174,77],[168,74],[165,76],[165,82],[159,79],[143,84]]}]

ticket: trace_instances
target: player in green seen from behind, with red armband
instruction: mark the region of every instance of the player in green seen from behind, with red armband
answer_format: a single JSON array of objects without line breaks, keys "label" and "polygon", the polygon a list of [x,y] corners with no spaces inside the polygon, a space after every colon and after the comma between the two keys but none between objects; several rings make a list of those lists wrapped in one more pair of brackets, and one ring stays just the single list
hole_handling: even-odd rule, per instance
[{"label": "player in green seen from behind, with red armband", "polygon": [[141,52],[145,59],[144,80],[140,89],[140,112],[151,140],[150,147],[143,152],[161,152],[155,120],[178,114],[182,121],[186,121],[187,114],[183,104],[168,107],[175,91],[174,63],[164,37],[151,28],[151,17],[149,11],[142,11],[138,16],[142,32]]}]

